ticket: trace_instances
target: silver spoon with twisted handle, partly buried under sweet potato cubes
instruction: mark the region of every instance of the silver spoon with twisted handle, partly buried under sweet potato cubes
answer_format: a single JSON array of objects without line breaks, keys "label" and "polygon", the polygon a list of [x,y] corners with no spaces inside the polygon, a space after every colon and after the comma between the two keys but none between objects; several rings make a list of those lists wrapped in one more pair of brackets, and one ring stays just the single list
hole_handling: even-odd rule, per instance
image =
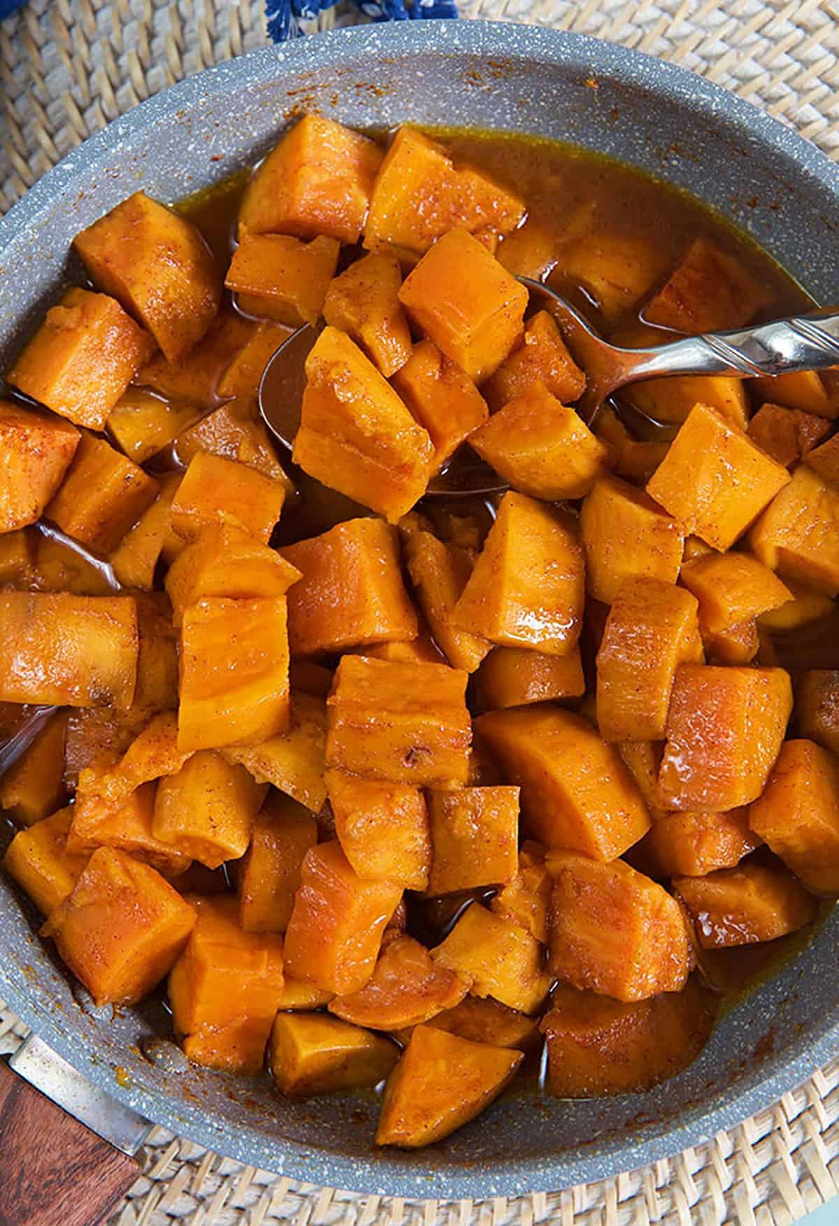
[{"label": "silver spoon with twisted handle, partly buried under sweet potato cubes", "polygon": [[[557,326],[585,371],[587,386],[577,412],[592,424],[603,402],[630,384],[668,375],[757,375],[824,370],[839,365],[839,314],[773,320],[756,327],[686,336],[669,345],[625,349],[609,345],[565,298],[539,281],[518,277],[532,297],[546,299]],[[290,455],[300,425],[300,406],[306,381],[305,360],[318,331],[306,325],[293,332],[268,359],[260,381],[260,413],[272,435]],[[645,416],[645,414],[641,414]],[[492,494],[507,485],[476,456],[451,465],[427,488],[432,497]]]}]

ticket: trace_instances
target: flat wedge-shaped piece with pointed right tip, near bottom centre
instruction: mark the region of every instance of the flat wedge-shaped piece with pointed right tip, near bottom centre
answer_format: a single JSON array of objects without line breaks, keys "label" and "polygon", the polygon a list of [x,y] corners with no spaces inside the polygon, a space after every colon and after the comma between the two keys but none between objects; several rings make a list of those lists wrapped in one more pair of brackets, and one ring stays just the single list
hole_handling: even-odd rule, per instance
[{"label": "flat wedge-shaped piece with pointed right tip, near bottom centre", "polygon": [[394,1031],[453,1009],[468,991],[468,980],[435,962],[413,937],[399,935],[385,946],[360,992],[336,997],[328,1008],[356,1026]]}]

